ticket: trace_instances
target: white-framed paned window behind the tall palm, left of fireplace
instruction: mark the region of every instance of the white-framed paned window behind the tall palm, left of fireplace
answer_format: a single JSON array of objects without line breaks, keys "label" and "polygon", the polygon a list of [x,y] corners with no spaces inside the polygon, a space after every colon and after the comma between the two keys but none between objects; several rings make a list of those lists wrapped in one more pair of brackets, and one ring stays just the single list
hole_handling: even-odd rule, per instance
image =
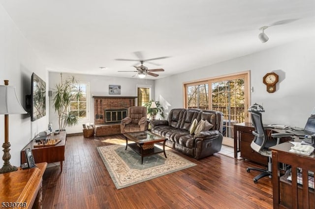
[{"label": "white-framed paned window behind the tall palm, left of fireplace", "polygon": [[70,112],[80,119],[88,119],[88,83],[80,82],[72,89]]}]

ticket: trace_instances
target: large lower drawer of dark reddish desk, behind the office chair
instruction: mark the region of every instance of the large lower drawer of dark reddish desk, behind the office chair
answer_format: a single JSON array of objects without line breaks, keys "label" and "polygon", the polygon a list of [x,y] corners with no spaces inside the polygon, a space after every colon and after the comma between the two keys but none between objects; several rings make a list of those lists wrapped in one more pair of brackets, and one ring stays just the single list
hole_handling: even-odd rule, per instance
[{"label": "large lower drawer of dark reddish desk, behind the office chair", "polygon": [[268,157],[262,156],[259,153],[255,152],[254,150],[252,150],[251,143],[241,141],[241,157],[249,159],[253,162],[258,162],[263,165],[267,165]]}]

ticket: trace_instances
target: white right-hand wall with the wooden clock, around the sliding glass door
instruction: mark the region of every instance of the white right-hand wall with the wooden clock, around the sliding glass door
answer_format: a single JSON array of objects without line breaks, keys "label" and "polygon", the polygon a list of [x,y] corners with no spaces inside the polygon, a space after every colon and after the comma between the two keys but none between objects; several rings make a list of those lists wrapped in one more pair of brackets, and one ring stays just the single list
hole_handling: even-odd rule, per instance
[{"label": "white right-hand wall with the wooden clock, around the sliding glass door", "polygon": [[[183,82],[250,70],[251,86],[254,89],[251,104],[262,104],[265,108],[263,123],[304,128],[315,107],[314,38],[158,79],[155,83],[155,99],[168,103],[169,109],[181,108]],[[266,85],[262,83],[263,76],[269,72],[279,75],[275,93],[267,93]]]}]

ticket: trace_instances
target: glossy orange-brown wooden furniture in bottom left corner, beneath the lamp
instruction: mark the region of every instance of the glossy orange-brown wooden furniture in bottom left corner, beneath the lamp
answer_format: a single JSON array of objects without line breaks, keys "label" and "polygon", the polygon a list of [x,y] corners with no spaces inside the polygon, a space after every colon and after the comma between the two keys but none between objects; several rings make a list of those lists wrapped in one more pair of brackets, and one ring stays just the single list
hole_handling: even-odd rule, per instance
[{"label": "glossy orange-brown wooden furniture in bottom left corner, beneath the lamp", "polygon": [[30,169],[0,174],[0,204],[2,208],[42,208],[42,177],[47,163],[37,163]]}]

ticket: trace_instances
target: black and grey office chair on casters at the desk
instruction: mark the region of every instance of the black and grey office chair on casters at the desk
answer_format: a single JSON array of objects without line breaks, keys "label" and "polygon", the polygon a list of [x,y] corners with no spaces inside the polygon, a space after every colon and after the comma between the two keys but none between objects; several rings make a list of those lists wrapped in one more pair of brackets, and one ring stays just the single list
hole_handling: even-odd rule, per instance
[{"label": "black and grey office chair on casters at the desk", "polygon": [[268,169],[261,169],[261,168],[247,168],[247,172],[251,172],[251,170],[261,171],[259,175],[255,176],[253,178],[253,182],[257,183],[258,179],[261,179],[265,176],[271,176],[272,170],[271,170],[271,151],[269,150],[269,147],[275,146],[280,143],[280,138],[282,137],[290,137],[293,136],[292,133],[272,133],[271,136],[273,138],[277,138],[277,140],[268,140],[268,137],[266,135],[266,131],[264,130],[264,126],[262,124],[261,120],[261,113],[257,111],[251,111],[252,113],[252,123],[255,127],[255,131],[252,131],[252,134],[254,135],[254,138],[251,143],[252,149],[259,153],[262,156],[268,157]]}]

